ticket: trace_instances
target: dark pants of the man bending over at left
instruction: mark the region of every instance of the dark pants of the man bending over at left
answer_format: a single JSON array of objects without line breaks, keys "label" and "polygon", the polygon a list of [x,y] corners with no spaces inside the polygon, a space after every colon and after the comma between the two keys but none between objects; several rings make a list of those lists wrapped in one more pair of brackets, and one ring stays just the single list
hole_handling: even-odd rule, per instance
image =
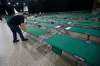
[{"label": "dark pants of the man bending over at left", "polygon": [[9,27],[10,27],[12,34],[13,34],[13,40],[17,40],[17,33],[19,34],[21,40],[24,39],[24,36],[23,36],[22,31],[19,28],[19,26],[9,25]]}]

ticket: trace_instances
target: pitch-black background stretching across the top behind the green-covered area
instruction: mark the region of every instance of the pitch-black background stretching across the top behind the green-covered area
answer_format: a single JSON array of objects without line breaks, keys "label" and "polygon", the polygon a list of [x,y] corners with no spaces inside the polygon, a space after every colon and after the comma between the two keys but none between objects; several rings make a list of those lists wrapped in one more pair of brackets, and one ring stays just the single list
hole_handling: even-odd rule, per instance
[{"label": "pitch-black background stretching across the top behind the green-covered area", "polygon": [[[65,11],[91,11],[94,0],[0,0],[0,14],[7,11],[9,14],[23,11],[24,3],[29,13],[36,12],[65,12]],[[10,2],[10,5],[8,4]],[[18,5],[16,3],[19,3]]]}]

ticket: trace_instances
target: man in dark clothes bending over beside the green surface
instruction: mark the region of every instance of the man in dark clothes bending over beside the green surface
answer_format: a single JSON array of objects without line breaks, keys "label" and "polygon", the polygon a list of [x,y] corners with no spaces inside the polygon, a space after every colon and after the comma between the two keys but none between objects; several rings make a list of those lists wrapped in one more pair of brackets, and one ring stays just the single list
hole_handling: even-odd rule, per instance
[{"label": "man in dark clothes bending over beside the green surface", "polygon": [[17,33],[19,34],[22,41],[27,41],[28,39],[24,38],[20,26],[24,24],[24,16],[23,15],[15,15],[8,22],[8,26],[10,27],[13,34],[13,42],[19,42],[17,39]]}]

